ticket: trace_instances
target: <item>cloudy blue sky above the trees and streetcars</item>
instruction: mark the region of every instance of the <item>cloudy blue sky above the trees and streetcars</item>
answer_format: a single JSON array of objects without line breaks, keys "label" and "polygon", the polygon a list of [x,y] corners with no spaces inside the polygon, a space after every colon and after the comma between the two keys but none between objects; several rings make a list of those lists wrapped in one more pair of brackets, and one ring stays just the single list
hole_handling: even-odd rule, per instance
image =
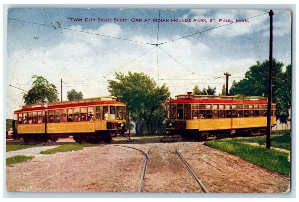
[{"label": "cloudy blue sky above the trees and streetcars", "polygon": [[[114,72],[145,72],[171,96],[210,85],[221,92],[257,60],[269,59],[269,10],[158,10],[13,8],[7,13],[7,118],[23,104],[32,75],[55,84],[62,100],[76,89],[83,98],[109,95]],[[152,22],[152,19],[169,22]],[[80,18],[82,22],[71,22]],[[95,22],[85,22],[85,19]],[[111,19],[98,22],[98,18]],[[126,22],[114,22],[114,19]],[[141,19],[132,22],[131,19]],[[149,22],[144,22],[150,19]],[[187,19],[191,22],[171,22]],[[206,22],[193,22],[194,19]],[[215,22],[210,22],[215,19]],[[236,19],[248,22],[231,23]],[[222,22],[219,22],[221,20]],[[227,21],[227,22],[223,22]],[[273,57],[291,63],[291,14],[274,10]],[[55,27],[54,27],[55,26]],[[105,35],[105,36],[103,36]],[[155,44],[158,43],[158,46]],[[5,76],[5,75],[4,75]],[[60,94],[59,94],[60,98]]]}]

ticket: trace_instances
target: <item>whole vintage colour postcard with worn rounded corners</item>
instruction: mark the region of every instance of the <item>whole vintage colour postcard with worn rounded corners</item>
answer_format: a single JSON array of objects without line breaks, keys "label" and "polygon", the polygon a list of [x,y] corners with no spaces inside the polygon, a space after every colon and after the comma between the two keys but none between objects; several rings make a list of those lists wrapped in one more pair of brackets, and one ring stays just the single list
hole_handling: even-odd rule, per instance
[{"label": "whole vintage colour postcard with worn rounded corners", "polygon": [[6,191],[289,193],[291,33],[283,9],[9,8]]}]

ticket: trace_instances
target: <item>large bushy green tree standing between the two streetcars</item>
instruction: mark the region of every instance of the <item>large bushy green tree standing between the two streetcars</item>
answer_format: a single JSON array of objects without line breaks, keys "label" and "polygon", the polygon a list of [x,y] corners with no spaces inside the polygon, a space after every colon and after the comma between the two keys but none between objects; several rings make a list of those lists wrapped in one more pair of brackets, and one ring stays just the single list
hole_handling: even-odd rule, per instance
[{"label": "large bushy green tree standing between the two streetcars", "polygon": [[113,96],[120,95],[124,103],[128,118],[132,121],[143,119],[149,134],[155,133],[163,124],[165,119],[165,104],[168,101],[170,92],[166,84],[157,86],[155,81],[148,75],[128,72],[115,73],[118,81],[109,80],[109,92]]}]

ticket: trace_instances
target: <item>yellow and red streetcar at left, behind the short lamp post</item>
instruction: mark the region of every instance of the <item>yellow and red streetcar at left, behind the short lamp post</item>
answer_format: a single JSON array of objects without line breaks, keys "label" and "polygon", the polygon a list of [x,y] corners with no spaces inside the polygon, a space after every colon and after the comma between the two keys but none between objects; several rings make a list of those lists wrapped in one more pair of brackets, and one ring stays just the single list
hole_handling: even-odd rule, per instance
[{"label": "yellow and red streetcar at left, behind the short lamp post", "polygon": [[73,136],[76,142],[110,143],[113,136],[127,131],[126,105],[115,97],[50,102],[45,110],[43,104],[31,104],[15,111],[14,139],[55,142]]}]

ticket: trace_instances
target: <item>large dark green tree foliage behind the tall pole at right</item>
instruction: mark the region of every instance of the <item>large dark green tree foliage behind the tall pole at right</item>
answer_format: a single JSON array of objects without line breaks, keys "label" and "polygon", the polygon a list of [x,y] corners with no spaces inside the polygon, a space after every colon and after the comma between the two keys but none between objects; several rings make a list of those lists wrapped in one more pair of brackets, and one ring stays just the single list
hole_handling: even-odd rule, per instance
[{"label": "large dark green tree foliage behind the tall pole at right", "polygon": [[[276,103],[276,117],[281,123],[286,123],[289,117],[291,102],[291,66],[282,72],[284,63],[273,60],[272,101]],[[239,82],[233,81],[231,95],[268,97],[269,60],[252,65],[245,73],[245,78]]]}]

